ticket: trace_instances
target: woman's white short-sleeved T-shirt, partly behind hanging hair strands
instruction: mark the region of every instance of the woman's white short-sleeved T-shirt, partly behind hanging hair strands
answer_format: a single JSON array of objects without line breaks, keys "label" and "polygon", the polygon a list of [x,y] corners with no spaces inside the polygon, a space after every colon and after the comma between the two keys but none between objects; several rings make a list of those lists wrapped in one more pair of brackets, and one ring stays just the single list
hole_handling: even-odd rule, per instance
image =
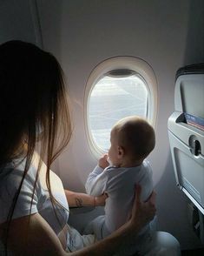
[{"label": "woman's white short-sleeved T-shirt, partly behind hanging hair strands", "polygon": [[[30,169],[23,180],[23,186],[16,202],[16,207],[12,219],[27,216],[30,214],[30,203],[33,194],[33,186],[36,180],[36,170],[39,156],[35,153]],[[0,224],[5,222],[8,213],[10,212],[10,205],[17,192],[23,177],[23,170],[25,166],[25,159],[14,160],[3,169],[0,169]],[[62,226],[67,223],[69,218],[69,205],[63,190],[63,183],[61,179],[52,171],[50,171],[50,184],[53,196],[65,209],[59,208],[58,218],[61,225],[58,224],[55,212],[53,210],[51,201],[49,199],[49,192],[46,185],[46,165],[42,164],[39,179],[36,182],[36,190],[34,192],[33,202],[31,205],[31,213],[39,212],[43,219],[45,219],[49,226],[52,227],[56,235],[61,232]]]}]

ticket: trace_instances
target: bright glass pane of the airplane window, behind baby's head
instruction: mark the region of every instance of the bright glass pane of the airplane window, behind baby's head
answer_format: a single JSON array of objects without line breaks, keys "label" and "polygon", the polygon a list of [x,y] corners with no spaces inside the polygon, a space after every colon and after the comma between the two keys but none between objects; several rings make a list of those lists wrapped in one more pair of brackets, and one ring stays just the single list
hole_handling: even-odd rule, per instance
[{"label": "bright glass pane of the airplane window, behind baby's head", "polygon": [[89,127],[95,144],[107,152],[110,130],[128,116],[148,116],[148,90],[133,71],[112,71],[95,84],[89,98]]}]

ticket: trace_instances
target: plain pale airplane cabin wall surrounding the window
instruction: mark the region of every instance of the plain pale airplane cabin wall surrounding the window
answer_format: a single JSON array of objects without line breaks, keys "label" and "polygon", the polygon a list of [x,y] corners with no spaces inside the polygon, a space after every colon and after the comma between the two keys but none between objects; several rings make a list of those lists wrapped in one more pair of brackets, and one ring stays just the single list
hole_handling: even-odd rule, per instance
[{"label": "plain pale airplane cabin wall surrounding the window", "polygon": [[[34,7],[37,3],[40,27],[29,3]],[[63,66],[74,128],[68,149],[53,168],[64,186],[75,191],[84,192],[84,182],[96,165],[83,122],[90,72],[115,56],[141,57],[152,66],[159,101],[156,147],[149,160],[159,229],[171,232],[183,249],[201,246],[189,225],[188,199],[175,185],[167,124],[174,111],[175,72],[185,64],[204,61],[203,1],[9,0],[0,3],[0,20],[1,43],[17,38],[40,45],[43,39],[44,50],[52,52]]]}]

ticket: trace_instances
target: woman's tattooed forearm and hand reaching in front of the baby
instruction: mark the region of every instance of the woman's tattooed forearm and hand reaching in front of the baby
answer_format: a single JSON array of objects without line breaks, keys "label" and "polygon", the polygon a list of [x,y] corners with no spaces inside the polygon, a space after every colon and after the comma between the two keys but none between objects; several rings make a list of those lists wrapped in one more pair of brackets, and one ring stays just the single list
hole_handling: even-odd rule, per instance
[{"label": "woman's tattooed forearm and hand reaching in front of the baby", "polygon": [[94,197],[85,193],[71,192],[69,190],[64,190],[64,192],[69,207],[102,206],[105,205],[105,200],[108,198],[108,195],[105,193],[99,197]]}]

